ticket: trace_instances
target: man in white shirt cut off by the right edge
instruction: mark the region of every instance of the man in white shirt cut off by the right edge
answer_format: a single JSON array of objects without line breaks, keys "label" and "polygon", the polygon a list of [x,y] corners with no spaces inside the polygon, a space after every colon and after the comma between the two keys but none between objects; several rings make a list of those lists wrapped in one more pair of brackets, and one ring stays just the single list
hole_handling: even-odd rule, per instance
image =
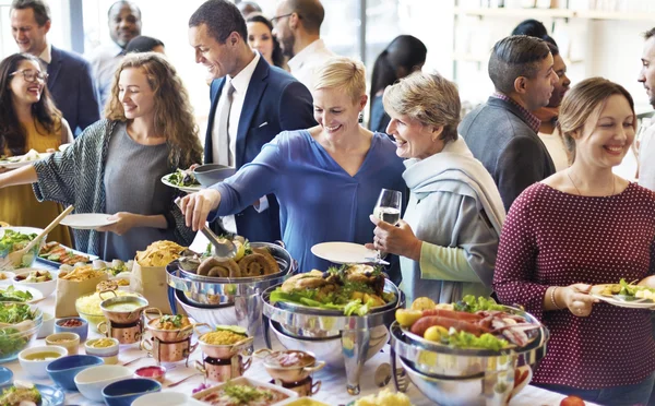
[{"label": "man in white shirt cut off by the right edge", "polygon": [[[655,108],[655,27],[644,33],[642,69],[638,81],[643,83],[648,101]],[[655,191],[655,124],[642,132],[639,145],[639,184]]]}]

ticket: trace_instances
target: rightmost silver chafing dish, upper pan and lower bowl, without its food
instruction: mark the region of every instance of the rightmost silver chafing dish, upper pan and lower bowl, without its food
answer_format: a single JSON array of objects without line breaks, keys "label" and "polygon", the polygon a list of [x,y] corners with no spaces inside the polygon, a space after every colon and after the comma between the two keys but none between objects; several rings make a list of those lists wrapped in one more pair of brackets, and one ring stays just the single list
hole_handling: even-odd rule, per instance
[{"label": "rightmost silver chafing dish, upper pan and lower bowl, without its food", "polygon": [[[529,313],[505,307],[538,323]],[[453,348],[416,339],[397,322],[390,327],[392,371],[397,360],[402,369],[394,374],[396,390],[409,379],[428,398],[439,405],[505,405],[514,390],[514,371],[519,366],[535,366],[546,355],[550,333],[544,326],[534,331],[524,347],[500,351]],[[397,355],[397,357],[396,357]]]}]

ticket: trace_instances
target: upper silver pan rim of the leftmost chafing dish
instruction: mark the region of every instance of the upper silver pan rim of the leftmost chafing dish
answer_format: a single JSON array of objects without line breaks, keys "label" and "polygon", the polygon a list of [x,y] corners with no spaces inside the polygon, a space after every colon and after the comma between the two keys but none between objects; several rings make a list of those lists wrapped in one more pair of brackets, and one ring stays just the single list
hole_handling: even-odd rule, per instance
[{"label": "upper silver pan rim of the leftmost chafing dish", "polygon": [[296,271],[296,262],[283,247],[269,242],[251,242],[251,246],[267,248],[277,261],[281,271],[258,277],[199,276],[183,270],[179,261],[174,261],[166,266],[167,283],[174,289],[184,292],[192,303],[218,306],[234,303],[236,297],[259,295],[265,288],[283,283]]}]

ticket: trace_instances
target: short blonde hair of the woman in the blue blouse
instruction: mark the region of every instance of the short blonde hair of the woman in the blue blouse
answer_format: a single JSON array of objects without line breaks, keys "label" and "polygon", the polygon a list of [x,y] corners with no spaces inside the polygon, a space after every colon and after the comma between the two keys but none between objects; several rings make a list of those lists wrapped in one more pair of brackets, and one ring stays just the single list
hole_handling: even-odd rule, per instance
[{"label": "short blonde hair of the woman in the blue blouse", "polygon": [[350,95],[354,103],[366,95],[366,69],[364,63],[346,57],[329,59],[314,71],[313,88],[338,88]]}]

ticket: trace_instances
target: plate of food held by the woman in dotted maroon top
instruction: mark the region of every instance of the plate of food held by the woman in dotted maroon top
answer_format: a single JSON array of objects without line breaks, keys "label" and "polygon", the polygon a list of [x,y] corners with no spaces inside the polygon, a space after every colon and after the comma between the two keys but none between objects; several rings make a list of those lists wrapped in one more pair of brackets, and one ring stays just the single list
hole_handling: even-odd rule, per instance
[{"label": "plate of food held by the woman in dotted maroon top", "polygon": [[628,309],[655,309],[655,289],[628,283],[594,285],[591,296],[606,303]]}]

